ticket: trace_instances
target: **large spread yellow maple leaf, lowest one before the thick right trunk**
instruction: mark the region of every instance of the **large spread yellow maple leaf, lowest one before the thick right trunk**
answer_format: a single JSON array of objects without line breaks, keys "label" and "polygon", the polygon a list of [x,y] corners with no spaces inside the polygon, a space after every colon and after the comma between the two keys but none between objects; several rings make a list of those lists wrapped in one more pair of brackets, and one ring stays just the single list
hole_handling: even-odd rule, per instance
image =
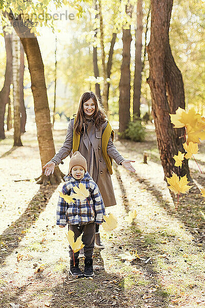
[{"label": "large spread yellow maple leaf, lowest one before the thick right trunk", "polygon": [[166,179],[168,184],[170,184],[168,188],[172,190],[175,194],[179,194],[179,192],[181,192],[182,194],[186,194],[187,191],[193,186],[187,185],[188,183],[190,183],[187,180],[187,175],[181,177],[179,180],[179,177],[175,173],[173,173],[171,178],[166,177]]}]

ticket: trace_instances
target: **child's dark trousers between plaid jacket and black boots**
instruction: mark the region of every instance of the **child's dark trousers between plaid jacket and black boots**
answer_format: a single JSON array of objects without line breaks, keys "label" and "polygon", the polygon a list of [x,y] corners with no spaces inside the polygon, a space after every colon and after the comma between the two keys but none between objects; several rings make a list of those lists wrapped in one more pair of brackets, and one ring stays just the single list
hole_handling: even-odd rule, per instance
[{"label": "child's dark trousers between plaid jacket and black boots", "polygon": [[[69,225],[71,231],[74,232],[74,240],[83,233],[82,241],[84,243],[84,255],[87,259],[91,259],[93,256],[93,249],[95,243],[95,223],[91,222],[85,225]],[[71,246],[69,246],[70,258],[73,260],[73,251]],[[74,254],[74,258],[77,259],[79,252]]]}]

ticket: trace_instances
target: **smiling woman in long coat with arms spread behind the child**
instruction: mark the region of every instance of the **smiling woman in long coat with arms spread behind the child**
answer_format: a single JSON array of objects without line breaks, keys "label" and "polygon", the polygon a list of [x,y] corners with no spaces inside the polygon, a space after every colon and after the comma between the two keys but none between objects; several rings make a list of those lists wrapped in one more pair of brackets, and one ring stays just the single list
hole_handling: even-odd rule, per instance
[{"label": "smiling woman in long coat with arms spread behind the child", "polygon": [[[66,140],[57,154],[43,168],[45,175],[53,174],[55,166],[65,159],[71,151],[79,151],[88,164],[88,172],[97,183],[105,206],[116,204],[112,174],[112,159],[118,165],[135,172],[130,162],[124,159],[113,145],[114,130],[93,92],[85,92],[80,99],[76,117],[68,125]],[[95,246],[104,248],[100,241],[99,225],[95,227]]]}]

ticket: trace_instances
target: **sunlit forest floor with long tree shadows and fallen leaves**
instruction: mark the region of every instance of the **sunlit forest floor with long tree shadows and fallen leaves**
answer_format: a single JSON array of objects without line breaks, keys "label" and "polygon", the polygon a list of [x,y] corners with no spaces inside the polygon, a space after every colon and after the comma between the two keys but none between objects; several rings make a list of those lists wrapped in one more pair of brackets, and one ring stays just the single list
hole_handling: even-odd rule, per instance
[{"label": "sunlit forest floor with long tree shadows and fallen leaves", "polygon": [[[180,196],[175,210],[153,127],[145,142],[116,140],[119,152],[136,161],[135,174],[114,164],[117,205],[107,214],[117,217],[120,240],[100,227],[106,248],[95,248],[95,277],[73,279],[65,230],[55,224],[63,183],[36,184],[41,165],[35,131],[22,136],[23,147],[12,148],[11,135],[0,143],[1,308],[205,307],[205,205],[199,190],[205,179],[194,161],[189,163],[194,187]],[[66,130],[53,135],[58,149]],[[142,163],[144,150],[148,164]],[[205,172],[204,145],[196,159]],[[64,173],[68,162],[61,165]],[[137,217],[129,224],[124,217],[133,209]],[[120,254],[135,251],[140,258],[121,259]]]}]

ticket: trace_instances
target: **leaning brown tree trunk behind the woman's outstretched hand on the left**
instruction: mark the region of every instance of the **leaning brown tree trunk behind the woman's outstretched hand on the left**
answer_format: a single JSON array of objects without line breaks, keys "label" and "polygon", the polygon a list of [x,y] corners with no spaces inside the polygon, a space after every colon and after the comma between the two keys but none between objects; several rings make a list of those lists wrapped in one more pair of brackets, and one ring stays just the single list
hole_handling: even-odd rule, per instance
[{"label": "leaning brown tree trunk behind the woman's outstretched hand on the left", "polygon": [[[34,99],[35,120],[37,127],[37,139],[40,151],[40,159],[44,166],[55,155],[53,135],[51,130],[50,110],[48,105],[47,90],[44,75],[44,64],[42,55],[38,46],[37,38],[30,29],[20,25],[22,20],[20,16],[16,19],[13,16],[11,23],[15,22],[15,31],[20,37],[20,41],[27,55],[29,71],[31,75],[31,90]],[[39,177],[39,184],[59,183],[63,174],[58,167],[55,168],[54,174],[46,177],[44,173]]]}]

